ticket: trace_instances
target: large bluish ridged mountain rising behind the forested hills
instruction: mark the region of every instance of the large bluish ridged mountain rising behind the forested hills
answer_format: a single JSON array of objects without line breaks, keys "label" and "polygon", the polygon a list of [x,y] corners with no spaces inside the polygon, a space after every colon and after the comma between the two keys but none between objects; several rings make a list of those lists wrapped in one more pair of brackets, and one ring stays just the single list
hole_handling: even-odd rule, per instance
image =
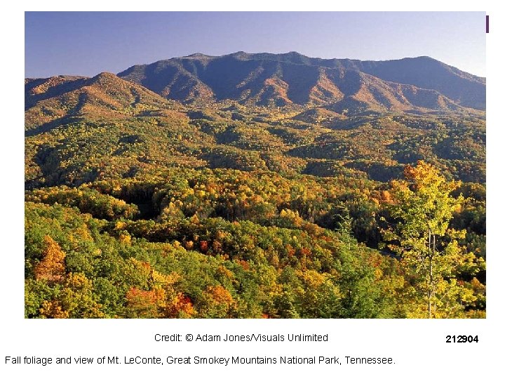
[{"label": "large bluish ridged mountain rising behind the forested hills", "polygon": [[185,103],[332,105],[337,112],[485,109],[485,79],[428,57],[375,62],[295,52],[198,53],[135,65],[118,76]]}]

